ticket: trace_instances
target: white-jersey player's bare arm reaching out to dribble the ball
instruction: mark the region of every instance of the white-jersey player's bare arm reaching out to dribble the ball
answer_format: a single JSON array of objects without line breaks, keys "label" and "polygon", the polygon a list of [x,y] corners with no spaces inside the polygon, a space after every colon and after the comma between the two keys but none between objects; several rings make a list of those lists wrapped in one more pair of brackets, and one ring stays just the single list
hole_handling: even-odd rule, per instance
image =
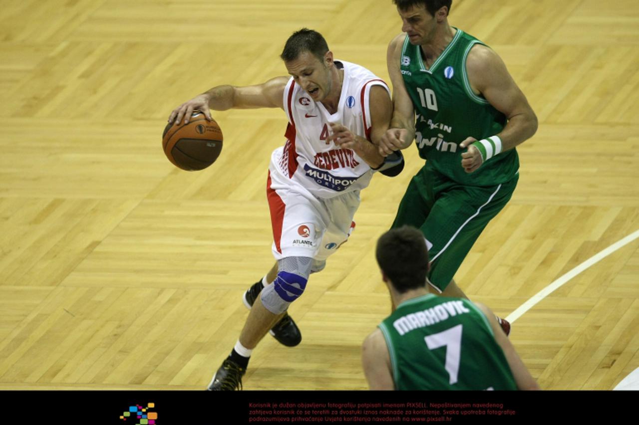
[{"label": "white-jersey player's bare arm reaching out to dribble the ball", "polygon": [[169,123],[179,123],[184,119],[188,123],[194,110],[204,112],[209,121],[210,109],[227,110],[231,108],[284,108],[284,88],[289,77],[275,77],[257,86],[235,87],[217,86],[199,94],[175,108],[169,116]]}]

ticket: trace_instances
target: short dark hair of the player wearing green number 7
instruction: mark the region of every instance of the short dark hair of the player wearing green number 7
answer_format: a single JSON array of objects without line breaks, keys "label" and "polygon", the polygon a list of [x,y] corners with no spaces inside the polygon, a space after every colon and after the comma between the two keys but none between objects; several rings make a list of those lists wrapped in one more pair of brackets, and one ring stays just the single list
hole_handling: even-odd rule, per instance
[{"label": "short dark hair of the player wearing green number 7", "polygon": [[398,292],[426,285],[428,248],[424,235],[416,228],[403,226],[381,235],[375,257],[381,271]]}]

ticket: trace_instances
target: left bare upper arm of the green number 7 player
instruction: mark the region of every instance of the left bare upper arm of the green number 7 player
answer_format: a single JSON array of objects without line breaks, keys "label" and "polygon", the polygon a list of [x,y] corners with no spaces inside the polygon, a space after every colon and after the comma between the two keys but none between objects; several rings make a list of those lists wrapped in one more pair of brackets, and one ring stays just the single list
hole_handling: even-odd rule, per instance
[{"label": "left bare upper arm of the green number 7 player", "polygon": [[389,349],[380,329],[367,336],[362,345],[362,366],[372,390],[395,389],[390,366]]}]

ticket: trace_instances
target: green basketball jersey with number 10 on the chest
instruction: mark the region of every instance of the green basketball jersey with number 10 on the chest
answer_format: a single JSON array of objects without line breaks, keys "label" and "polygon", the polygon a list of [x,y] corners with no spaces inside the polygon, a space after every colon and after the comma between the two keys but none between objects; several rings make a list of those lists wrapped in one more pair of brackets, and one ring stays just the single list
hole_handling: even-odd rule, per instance
[{"label": "green basketball jersey with number 10 on the chest", "polygon": [[459,144],[466,137],[477,140],[496,135],[506,123],[504,114],[486,99],[473,93],[466,75],[466,57],[480,43],[460,29],[429,69],[422,50],[404,41],[401,73],[415,107],[415,143],[419,156],[453,181],[471,186],[505,183],[519,169],[515,149],[493,156],[478,170],[467,174],[461,167]]}]

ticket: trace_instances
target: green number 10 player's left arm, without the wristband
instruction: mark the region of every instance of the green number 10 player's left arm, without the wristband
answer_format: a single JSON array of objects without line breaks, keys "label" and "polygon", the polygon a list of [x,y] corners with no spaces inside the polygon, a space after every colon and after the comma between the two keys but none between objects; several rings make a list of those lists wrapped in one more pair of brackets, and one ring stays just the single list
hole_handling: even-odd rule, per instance
[{"label": "green number 10 player's left arm, without the wristband", "polygon": [[389,130],[385,131],[378,141],[374,141],[380,154],[384,156],[399,149],[406,149],[415,138],[415,108],[404,86],[399,67],[405,37],[406,34],[396,36],[390,41],[387,50],[387,66],[390,82],[393,84],[393,114]]}]

